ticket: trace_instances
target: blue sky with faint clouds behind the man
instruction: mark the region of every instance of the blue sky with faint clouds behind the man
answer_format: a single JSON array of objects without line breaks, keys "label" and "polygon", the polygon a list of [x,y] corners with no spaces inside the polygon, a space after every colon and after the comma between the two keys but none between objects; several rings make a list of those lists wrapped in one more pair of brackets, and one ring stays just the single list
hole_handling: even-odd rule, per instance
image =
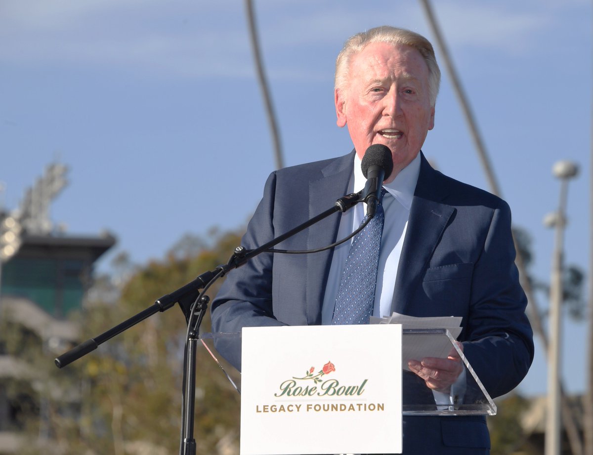
[{"label": "blue sky with faint clouds behind the man", "polygon": [[[566,261],[587,270],[591,2],[433,3],[514,223],[533,238],[535,275],[550,274],[553,233],[542,219],[557,207],[551,166],[560,159],[581,166],[569,187]],[[352,149],[333,105],[334,61],[347,37],[390,24],[433,40],[412,0],[255,8],[286,165]],[[184,233],[243,226],[275,166],[246,24],[241,0],[0,0],[5,206],[14,209],[59,159],[69,186],[52,219],[73,235],[113,232],[119,242],[101,268],[118,251],[142,264]],[[445,174],[488,189],[441,68],[423,150]],[[565,327],[572,392],[584,388],[585,356],[575,347],[585,339],[584,324]],[[543,393],[545,373],[538,349],[521,390]]]}]

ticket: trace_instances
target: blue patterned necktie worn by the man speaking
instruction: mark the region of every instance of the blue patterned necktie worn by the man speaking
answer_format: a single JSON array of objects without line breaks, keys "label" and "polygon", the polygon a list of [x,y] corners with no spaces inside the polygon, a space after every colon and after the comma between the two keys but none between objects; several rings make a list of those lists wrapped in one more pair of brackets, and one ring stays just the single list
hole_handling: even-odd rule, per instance
[{"label": "blue patterned necktie worn by the man speaking", "polygon": [[[377,203],[377,212],[368,225],[354,236],[346,265],[342,272],[340,287],[337,290],[336,306],[331,323],[368,324],[375,306],[375,287],[377,287],[377,265],[383,233],[382,200],[385,188]],[[362,222],[366,221],[365,216]]]}]

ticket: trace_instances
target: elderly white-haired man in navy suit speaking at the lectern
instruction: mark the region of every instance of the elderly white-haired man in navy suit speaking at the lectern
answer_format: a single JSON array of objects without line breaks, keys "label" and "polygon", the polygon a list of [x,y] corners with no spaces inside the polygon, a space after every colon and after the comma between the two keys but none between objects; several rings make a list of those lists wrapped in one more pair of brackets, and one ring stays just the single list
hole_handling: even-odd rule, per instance
[{"label": "elderly white-haired man in navy suit speaking at the lectern", "polygon": [[[379,204],[384,221],[368,315],[462,316],[464,354],[495,397],[527,373],[533,333],[508,205],[435,171],[420,152],[434,126],[439,79],[432,46],[416,33],[377,27],[346,41],[336,62],[335,103],[337,124],[347,126],[354,150],[273,172],[243,245],[263,245],[360,190],[366,150],[387,146],[393,172]],[[358,204],[278,248],[318,248],[345,238],[363,211]],[[340,319],[340,281],[352,267],[349,249],[347,242],[310,255],[259,255],[228,275],[212,305],[213,330],[347,323]],[[236,347],[221,351],[240,369]],[[461,371],[455,358],[419,359],[410,369],[435,391],[446,390]],[[403,447],[405,454],[487,454],[490,441],[482,416],[404,416]]]}]

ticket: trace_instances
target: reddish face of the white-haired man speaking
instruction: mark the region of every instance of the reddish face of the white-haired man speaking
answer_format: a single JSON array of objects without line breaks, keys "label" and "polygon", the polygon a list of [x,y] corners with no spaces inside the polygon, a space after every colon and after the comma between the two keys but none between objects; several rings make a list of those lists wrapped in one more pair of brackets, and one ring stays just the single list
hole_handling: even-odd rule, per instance
[{"label": "reddish face of the white-haired man speaking", "polygon": [[372,144],[390,148],[390,182],[416,158],[434,127],[428,66],[413,47],[371,43],[352,58],[349,70],[346,87],[335,93],[337,125],[348,126],[361,159]]}]

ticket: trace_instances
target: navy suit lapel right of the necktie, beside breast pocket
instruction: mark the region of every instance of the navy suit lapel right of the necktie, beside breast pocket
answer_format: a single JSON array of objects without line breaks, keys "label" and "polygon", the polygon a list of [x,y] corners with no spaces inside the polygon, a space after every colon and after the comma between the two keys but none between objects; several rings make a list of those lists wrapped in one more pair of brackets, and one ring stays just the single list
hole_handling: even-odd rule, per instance
[{"label": "navy suit lapel right of the necktie, beside breast pocket", "polygon": [[[424,155],[421,159],[391,303],[392,311],[403,314],[407,314],[406,310],[413,303],[410,301],[413,290],[422,286],[432,252],[455,211],[454,207],[440,202],[447,196],[444,190],[447,185],[441,185],[442,174],[431,168]],[[418,310],[422,314],[422,309]]]}]

